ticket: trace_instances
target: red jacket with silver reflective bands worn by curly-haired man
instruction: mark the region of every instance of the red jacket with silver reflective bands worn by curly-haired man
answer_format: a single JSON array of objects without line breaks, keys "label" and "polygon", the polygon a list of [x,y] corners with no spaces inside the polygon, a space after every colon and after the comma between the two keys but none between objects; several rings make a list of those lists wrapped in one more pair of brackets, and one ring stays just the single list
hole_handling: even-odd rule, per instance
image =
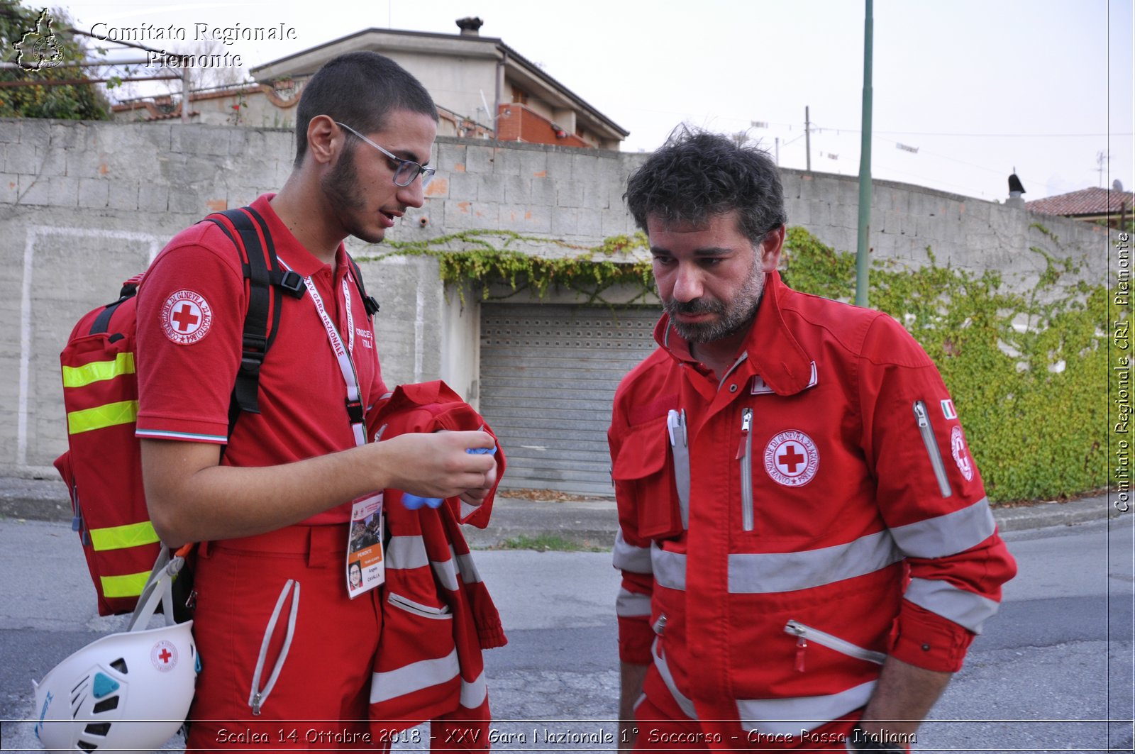
[{"label": "red jacket with silver reflective bands worn by curly-haired man", "polygon": [[914,338],[775,273],[725,376],[655,338],[608,432],[623,661],[768,732],[861,707],[886,654],[957,670],[1016,564]]}]

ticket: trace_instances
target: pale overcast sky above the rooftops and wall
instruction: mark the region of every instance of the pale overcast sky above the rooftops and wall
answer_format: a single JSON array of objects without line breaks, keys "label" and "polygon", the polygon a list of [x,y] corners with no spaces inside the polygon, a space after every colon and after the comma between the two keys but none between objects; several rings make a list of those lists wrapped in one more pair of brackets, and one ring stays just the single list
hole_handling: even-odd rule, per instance
[{"label": "pale overcast sky above the rooftops and wall", "polygon": [[[34,7],[34,0],[24,0]],[[858,175],[864,0],[56,0],[81,28],[279,26],[234,42],[245,68],[378,27],[497,37],[659,146],[680,123],[747,131],[784,167]],[[872,176],[1003,201],[1135,187],[1135,0],[876,0]],[[161,40],[148,47],[179,49]],[[445,102],[439,102],[445,104]],[[754,123],[762,124],[754,126]],[[900,146],[901,145],[901,146]],[[917,151],[914,151],[917,150]]]}]

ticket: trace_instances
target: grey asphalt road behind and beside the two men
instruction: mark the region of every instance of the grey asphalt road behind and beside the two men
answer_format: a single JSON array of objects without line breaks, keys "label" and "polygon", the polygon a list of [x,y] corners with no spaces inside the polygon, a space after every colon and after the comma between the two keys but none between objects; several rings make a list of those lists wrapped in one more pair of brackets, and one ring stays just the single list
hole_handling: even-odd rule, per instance
[{"label": "grey asphalt road behind and beside the two men", "polygon": [[[915,751],[1132,751],[1133,522],[1127,516],[1006,535],[1020,573]],[[31,680],[121,623],[95,615],[73,537],[60,522],[0,520],[5,752],[40,751],[28,721]],[[486,654],[494,748],[613,748],[594,743],[615,731],[617,576],[609,555],[481,551],[476,559],[510,637]]]}]

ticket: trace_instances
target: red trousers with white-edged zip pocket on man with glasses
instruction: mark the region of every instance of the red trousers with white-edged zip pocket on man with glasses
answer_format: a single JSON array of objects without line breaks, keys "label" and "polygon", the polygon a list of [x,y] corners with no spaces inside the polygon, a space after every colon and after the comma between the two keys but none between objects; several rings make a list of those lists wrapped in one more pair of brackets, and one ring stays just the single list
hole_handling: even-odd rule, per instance
[{"label": "red trousers with white-edged zip pocket on man with glasses", "polygon": [[[346,546],[344,523],[293,526],[199,548],[193,635],[201,675],[187,751],[389,748],[376,740],[380,736],[367,719],[382,592],[347,597]],[[257,659],[288,579],[300,585],[294,635],[279,677],[254,715],[249,698]],[[292,604],[289,592],[271,634],[260,689],[280,656]]]}]

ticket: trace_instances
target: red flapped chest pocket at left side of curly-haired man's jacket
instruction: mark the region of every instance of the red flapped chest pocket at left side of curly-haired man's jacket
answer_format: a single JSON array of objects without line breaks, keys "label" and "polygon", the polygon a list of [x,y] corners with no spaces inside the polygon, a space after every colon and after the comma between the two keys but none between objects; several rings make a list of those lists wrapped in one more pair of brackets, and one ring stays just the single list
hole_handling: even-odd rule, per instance
[{"label": "red flapped chest pocket at left side of curly-haired man's jacket", "polygon": [[[678,413],[671,411],[671,417]],[[679,486],[670,442],[672,434],[678,438],[678,433],[671,432],[673,424],[674,419],[659,417],[632,427],[612,467],[615,493],[621,500],[633,501],[641,537],[676,537],[684,529],[683,520],[688,520],[686,504],[680,500],[689,500],[689,454],[679,451],[686,468],[686,484]],[[684,450],[684,427],[681,435]]]}]

